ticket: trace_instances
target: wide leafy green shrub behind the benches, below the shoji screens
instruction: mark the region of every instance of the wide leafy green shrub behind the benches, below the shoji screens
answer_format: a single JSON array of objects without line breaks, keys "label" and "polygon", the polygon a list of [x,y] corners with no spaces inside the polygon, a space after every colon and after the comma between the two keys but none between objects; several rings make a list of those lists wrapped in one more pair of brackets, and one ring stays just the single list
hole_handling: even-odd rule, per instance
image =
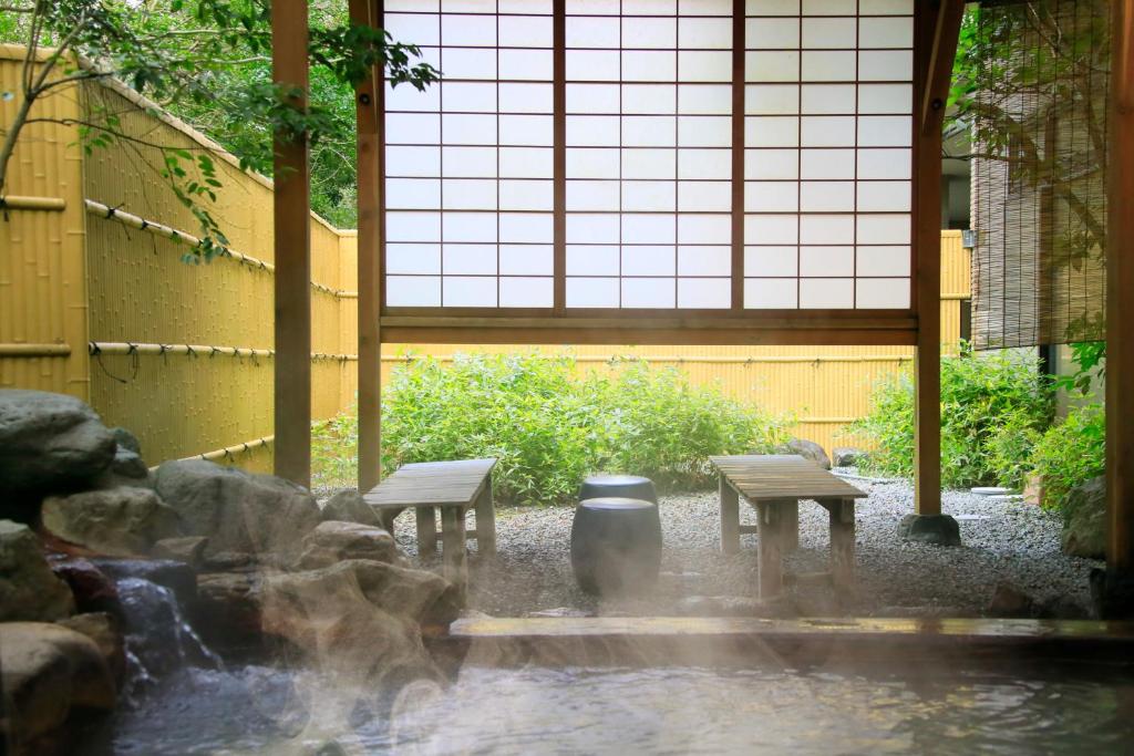
[{"label": "wide leafy green shrub behind the benches, below the shoji screens", "polygon": [[[646,475],[662,489],[711,479],[708,457],[770,450],[784,423],[689,385],[675,368],[619,362],[576,376],[570,357],[458,355],[396,368],[382,401],[382,465],[497,457],[501,500],[569,501],[589,473]],[[315,428],[316,485],[353,479],[354,415]]]}]

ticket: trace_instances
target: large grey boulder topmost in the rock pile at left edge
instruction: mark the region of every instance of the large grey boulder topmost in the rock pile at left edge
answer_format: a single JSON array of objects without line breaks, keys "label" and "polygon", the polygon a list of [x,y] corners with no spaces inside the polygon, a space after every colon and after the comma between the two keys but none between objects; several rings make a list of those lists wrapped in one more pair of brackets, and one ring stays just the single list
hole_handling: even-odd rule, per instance
[{"label": "large grey boulder topmost in the rock pile at left edge", "polygon": [[110,466],[116,445],[94,410],[75,397],[0,389],[0,498],[74,490]]}]

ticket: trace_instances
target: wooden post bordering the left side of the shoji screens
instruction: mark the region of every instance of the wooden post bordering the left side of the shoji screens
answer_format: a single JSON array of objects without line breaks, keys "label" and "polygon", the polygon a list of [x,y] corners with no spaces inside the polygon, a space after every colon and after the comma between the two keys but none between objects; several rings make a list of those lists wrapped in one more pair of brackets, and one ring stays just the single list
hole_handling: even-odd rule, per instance
[{"label": "wooden post bordering the left side of the shoji screens", "polygon": [[[382,0],[350,0],[350,23],[381,28]],[[358,121],[358,490],[370,491],[382,465],[382,112],[384,71],[355,90]],[[409,86],[408,84],[404,86]]]}]

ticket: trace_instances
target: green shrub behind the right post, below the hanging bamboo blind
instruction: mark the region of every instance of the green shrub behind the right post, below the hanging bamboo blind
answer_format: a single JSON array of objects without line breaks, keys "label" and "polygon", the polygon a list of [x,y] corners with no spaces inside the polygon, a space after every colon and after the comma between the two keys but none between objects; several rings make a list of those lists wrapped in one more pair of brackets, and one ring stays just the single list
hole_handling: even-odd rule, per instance
[{"label": "green shrub behind the right post, below the hanging bamboo blind", "polygon": [[[909,373],[875,390],[870,414],[850,430],[866,435],[874,449],[868,473],[908,477],[914,459],[914,389]],[[947,487],[1018,481],[1023,473],[1010,457],[1013,444],[1026,444],[1051,413],[1051,383],[1033,354],[963,349],[941,359],[941,483]],[[1023,439],[1009,436],[1030,430]]]}]

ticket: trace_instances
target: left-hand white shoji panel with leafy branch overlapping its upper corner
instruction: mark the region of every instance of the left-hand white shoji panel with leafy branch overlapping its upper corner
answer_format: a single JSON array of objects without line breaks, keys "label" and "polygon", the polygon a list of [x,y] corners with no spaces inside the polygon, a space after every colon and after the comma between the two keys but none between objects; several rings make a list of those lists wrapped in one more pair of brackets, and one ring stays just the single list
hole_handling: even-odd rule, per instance
[{"label": "left-hand white shoji panel with leafy branch overlapping its upper corner", "polygon": [[386,304],[551,307],[551,0],[387,0],[442,83],[386,93]]}]

